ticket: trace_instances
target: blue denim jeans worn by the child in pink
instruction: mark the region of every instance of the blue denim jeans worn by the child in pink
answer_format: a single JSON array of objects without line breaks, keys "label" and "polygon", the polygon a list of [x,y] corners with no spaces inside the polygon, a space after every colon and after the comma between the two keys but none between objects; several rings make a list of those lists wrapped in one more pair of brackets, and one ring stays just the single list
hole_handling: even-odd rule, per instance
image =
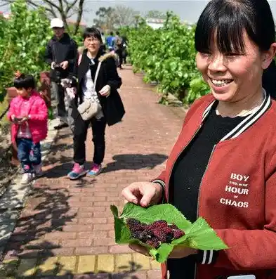
[{"label": "blue denim jeans worn by the child in pink", "polygon": [[33,143],[30,138],[16,138],[18,160],[24,172],[33,172],[33,165],[41,163],[40,143]]}]

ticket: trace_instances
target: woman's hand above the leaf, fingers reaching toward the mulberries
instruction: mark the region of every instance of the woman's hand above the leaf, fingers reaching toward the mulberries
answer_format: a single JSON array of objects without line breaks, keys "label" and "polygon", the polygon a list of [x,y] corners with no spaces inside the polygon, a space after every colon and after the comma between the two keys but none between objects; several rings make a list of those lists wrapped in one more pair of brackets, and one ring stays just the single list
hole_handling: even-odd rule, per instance
[{"label": "woman's hand above the leaf, fingers reaching toward the mulberries", "polygon": [[127,202],[141,207],[156,205],[162,198],[163,189],[158,183],[135,182],[121,191]]}]

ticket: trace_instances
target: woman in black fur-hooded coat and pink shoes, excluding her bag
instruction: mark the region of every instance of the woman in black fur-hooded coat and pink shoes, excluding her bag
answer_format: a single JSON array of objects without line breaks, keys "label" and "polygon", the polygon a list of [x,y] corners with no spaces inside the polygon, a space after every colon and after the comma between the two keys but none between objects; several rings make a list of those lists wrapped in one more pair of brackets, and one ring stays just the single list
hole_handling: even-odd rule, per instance
[{"label": "woman in black fur-hooded coat and pink shoes, excluding her bag", "polygon": [[[96,28],[84,31],[83,53],[76,60],[75,77],[78,80],[77,94],[74,98],[72,117],[74,118],[74,167],[68,174],[72,180],[88,175],[96,176],[102,169],[105,157],[105,127],[120,122],[124,116],[124,105],[117,89],[121,86],[121,78],[117,73],[114,53],[105,53],[101,48],[102,38]],[[98,77],[96,72],[98,65]],[[95,80],[96,79],[96,80]],[[96,83],[96,86],[94,86]],[[101,109],[91,119],[84,121],[78,105],[88,101],[100,104]],[[86,135],[91,124],[93,132],[94,155],[90,171],[86,171]]]}]

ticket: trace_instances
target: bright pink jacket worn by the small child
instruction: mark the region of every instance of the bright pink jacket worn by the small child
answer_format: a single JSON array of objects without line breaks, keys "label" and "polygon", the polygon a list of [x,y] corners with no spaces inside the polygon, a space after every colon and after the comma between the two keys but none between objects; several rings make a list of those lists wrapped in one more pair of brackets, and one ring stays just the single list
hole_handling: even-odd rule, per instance
[{"label": "bright pink jacket worn by the small child", "polygon": [[[24,106],[23,102],[26,102]],[[22,117],[29,115],[29,130],[32,134],[32,141],[34,143],[39,143],[39,141],[44,140],[47,136],[47,119],[48,119],[48,109],[43,98],[36,91],[32,92],[29,100],[25,100],[21,96],[13,98],[11,101],[10,109],[8,110],[8,119],[11,121],[12,115],[15,117]],[[19,125],[12,124],[11,126],[11,140],[15,143],[16,136],[18,134]]]}]

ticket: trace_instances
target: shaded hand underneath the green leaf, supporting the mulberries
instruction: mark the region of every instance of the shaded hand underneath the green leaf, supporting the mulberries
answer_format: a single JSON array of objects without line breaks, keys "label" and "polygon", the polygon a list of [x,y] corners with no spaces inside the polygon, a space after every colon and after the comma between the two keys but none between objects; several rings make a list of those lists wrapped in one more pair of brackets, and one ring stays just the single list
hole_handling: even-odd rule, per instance
[{"label": "shaded hand underneath the green leaf, supporting the mulberries", "polygon": [[[143,247],[142,245],[138,244],[130,244],[129,248],[133,249],[133,251],[143,254],[147,257],[151,257],[149,250],[146,247]],[[190,256],[191,254],[197,254],[196,249],[184,247],[184,246],[176,246],[173,248],[173,251],[169,255],[170,259],[182,259],[185,257]]]}]

